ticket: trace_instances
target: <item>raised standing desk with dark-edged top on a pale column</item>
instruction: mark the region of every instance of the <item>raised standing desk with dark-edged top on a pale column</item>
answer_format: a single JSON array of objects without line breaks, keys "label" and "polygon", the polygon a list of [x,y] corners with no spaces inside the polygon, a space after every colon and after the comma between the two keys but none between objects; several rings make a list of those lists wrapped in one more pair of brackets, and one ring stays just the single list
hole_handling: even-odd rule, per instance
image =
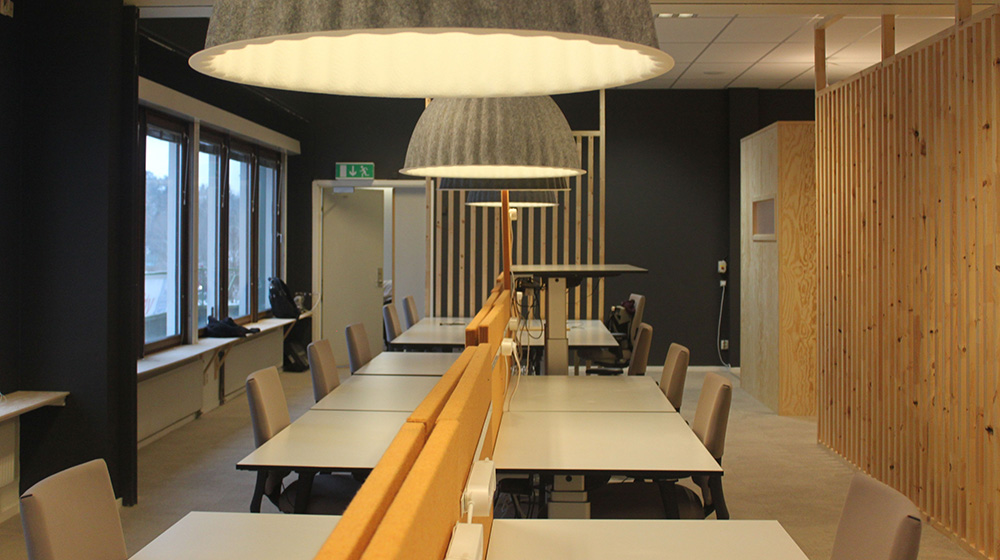
[{"label": "raised standing desk with dark-edged top on a pale column", "polygon": [[515,276],[537,276],[545,282],[545,373],[569,374],[569,339],[566,334],[568,290],[584,278],[607,278],[619,274],[648,272],[630,264],[519,264],[510,269]]}]

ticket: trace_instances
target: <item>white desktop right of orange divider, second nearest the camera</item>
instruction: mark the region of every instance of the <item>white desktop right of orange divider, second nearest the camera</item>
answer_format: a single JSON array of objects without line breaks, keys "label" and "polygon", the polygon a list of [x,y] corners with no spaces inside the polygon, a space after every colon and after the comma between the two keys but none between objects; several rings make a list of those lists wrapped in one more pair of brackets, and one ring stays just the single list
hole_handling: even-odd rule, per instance
[{"label": "white desktop right of orange divider, second nearest the camera", "polygon": [[493,452],[497,471],[687,476],[722,467],[680,414],[504,413]]}]

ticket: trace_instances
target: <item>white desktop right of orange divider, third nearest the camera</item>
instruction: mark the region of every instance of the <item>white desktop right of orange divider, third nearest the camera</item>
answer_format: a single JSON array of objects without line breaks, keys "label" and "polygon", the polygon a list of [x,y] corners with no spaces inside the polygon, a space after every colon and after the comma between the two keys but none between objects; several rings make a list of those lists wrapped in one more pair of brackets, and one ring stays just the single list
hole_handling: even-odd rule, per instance
[{"label": "white desktop right of orange divider, third nearest the camera", "polygon": [[667,412],[674,407],[646,376],[524,375],[511,380],[515,412]]}]

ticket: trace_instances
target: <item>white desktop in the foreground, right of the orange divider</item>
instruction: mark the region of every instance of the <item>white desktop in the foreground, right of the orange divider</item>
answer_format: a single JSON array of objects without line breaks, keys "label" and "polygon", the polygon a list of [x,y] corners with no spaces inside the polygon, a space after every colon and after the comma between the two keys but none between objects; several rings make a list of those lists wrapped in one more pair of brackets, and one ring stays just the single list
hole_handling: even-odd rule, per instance
[{"label": "white desktop in the foreground, right of the orange divider", "polygon": [[487,560],[807,560],[777,521],[497,519]]}]

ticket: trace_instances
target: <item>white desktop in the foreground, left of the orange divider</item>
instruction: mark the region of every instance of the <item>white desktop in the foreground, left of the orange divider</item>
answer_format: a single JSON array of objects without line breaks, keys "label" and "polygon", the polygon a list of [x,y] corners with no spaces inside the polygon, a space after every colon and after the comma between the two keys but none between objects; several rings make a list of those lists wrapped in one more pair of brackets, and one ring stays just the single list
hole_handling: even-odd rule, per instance
[{"label": "white desktop in the foreground, left of the orange divider", "polygon": [[194,511],[132,560],[312,560],[339,515]]}]

